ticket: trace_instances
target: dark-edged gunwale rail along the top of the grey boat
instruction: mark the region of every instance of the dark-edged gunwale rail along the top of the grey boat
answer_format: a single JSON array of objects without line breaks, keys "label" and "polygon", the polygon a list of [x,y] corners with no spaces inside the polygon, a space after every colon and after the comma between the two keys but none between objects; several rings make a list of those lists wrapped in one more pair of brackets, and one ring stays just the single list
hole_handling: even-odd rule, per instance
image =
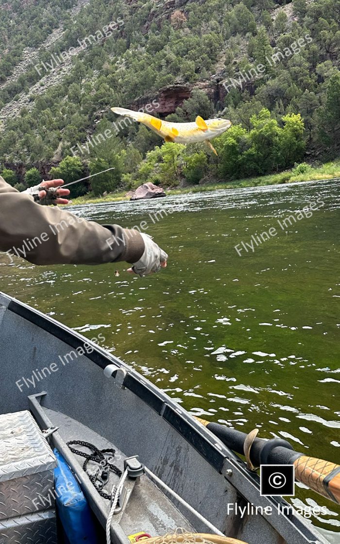
[{"label": "dark-edged gunwale rail along the top of the grey boat", "polygon": [[[7,309],[11,313],[14,313],[28,322],[40,327],[40,329],[57,337],[60,339],[60,341],[70,345],[70,347],[79,348],[83,347],[84,344],[90,345],[93,348],[92,353],[86,352],[86,355],[84,356],[91,362],[94,362],[100,368],[104,369],[109,364],[114,363],[116,366],[119,366],[125,370],[126,376],[122,382],[122,386],[126,387],[133,394],[137,395],[149,407],[156,411],[159,416],[166,421],[166,423],[171,425],[180,436],[190,443],[197,453],[199,453],[202,458],[215,469],[215,471],[222,474],[228,481],[228,484],[237,489],[248,502],[251,502],[251,498],[256,496],[257,502],[263,507],[271,505],[274,509],[282,509],[282,506],[291,506],[281,497],[260,496],[259,476],[257,473],[248,471],[242,459],[240,459],[237,454],[232,452],[231,449],[225,446],[225,444],[222,443],[219,438],[215,437],[211,431],[197,422],[189,412],[184,410],[166,393],[159,390],[157,386],[153,385],[149,380],[144,378],[144,376],[141,376],[136,370],[129,367],[118,357],[110,354],[104,348],[101,348],[90,339],[82,336],[78,331],[73,331],[70,329],[70,327],[58,322],[51,316],[47,316],[39,310],[36,310],[36,308],[32,308],[24,302],[18,301],[17,299],[12,298],[1,291],[0,305],[7,306]],[[229,473],[230,470],[232,474]],[[243,483],[244,485],[239,485]],[[240,491],[240,487],[243,487],[242,491]],[[247,493],[244,493],[245,489],[248,491]],[[263,515],[263,517],[276,529],[279,534],[280,530],[283,529],[282,522],[283,520],[286,520],[288,524],[292,525],[292,529],[290,530],[298,531],[300,536],[304,539],[304,542],[316,542],[316,533],[313,532],[313,530],[311,530],[307,524],[305,524],[304,520],[297,512],[293,512],[291,515],[286,513],[280,514],[277,524],[274,520],[276,516]],[[285,525],[284,522],[283,525]],[[313,526],[312,528],[317,531],[317,528],[314,528]],[[286,533],[287,529],[288,528],[286,528],[284,533]],[[318,536],[322,537],[322,535],[319,534]]]}]

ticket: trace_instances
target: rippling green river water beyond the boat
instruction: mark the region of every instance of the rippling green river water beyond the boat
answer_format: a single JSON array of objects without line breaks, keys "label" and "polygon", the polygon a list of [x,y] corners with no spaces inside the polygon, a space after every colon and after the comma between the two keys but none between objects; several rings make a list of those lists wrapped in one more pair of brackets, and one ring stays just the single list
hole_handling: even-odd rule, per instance
[{"label": "rippling green river water beyond the boat", "polygon": [[[146,221],[168,268],[141,279],[124,263],[34,267],[2,255],[1,289],[101,333],[194,415],[340,463],[339,196],[333,180],[73,206],[103,224]],[[298,213],[310,203],[312,217]],[[256,246],[252,235],[270,228]],[[312,521],[340,542],[340,507],[300,487],[292,500],[327,505]]]}]

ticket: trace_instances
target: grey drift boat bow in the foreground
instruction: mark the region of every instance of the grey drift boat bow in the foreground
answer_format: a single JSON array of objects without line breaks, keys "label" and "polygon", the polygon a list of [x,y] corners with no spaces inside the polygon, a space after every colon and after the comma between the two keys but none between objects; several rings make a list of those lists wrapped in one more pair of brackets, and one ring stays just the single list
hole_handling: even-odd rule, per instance
[{"label": "grey drift boat bow in the foreground", "polygon": [[[76,475],[101,544],[107,541],[106,527],[108,541],[115,544],[129,544],[142,537],[154,539],[174,533],[179,527],[182,533],[177,542],[189,541],[183,533],[203,533],[206,535],[200,537],[200,542],[327,543],[316,528],[291,507],[288,509],[285,500],[260,496],[258,475],[249,471],[246,463],[201,422],[135,370],[79,333],[0,294],[0,341],[0,422],[1,418],[13,418],[13,412],[20,412],[20,417],[24,414],[26,419],[33,416],[44,431],[44,440],[58,449]],[[0,423],[0,434],[7,431],[8,425],[2,428]],[[34,432],[38,431],[41,432],[36,426]],[[11,440],[13,434],[13,430],[8,431]],[[73,444],[67,446],[70,441]],[[86,458],[83,446],[88,443],[94,444],[100,453],[93,450]],[[111,452],[112,459],[98,477],[98,471],[94,475],[93,459],[101,459],[105,450]],[[94,463],[92,472],[84,471],[84,457],[87,468]],[[2,480],[13,477],[1,471],[2,462],[0,452],[0,493]],[[45,471],[51,469],[51,462],[48,463]],[[110,469],[113,466],[115,470]],[[28,478],[27,471],[25,474],[24,478]],[[103,490],[109,490],[108,498]],[[21,497],[27,502],[23,515],[26,528],[28,518],[32,521],[39,514],[41,523],[43,513],[47,515],[40,510],[27,513],[34,500],[34,496],[28,495],[26,491]],[[1,497],[0,535],[10,531],[13,520],[16,531],[21,527],[17,498],[16,495],[16,506],[4,523],[1,511],[9,498]],[[228,505],[233,505],[232,510]],[[250,505],[257,507],[257,515],[252,515],[248,508],[240,516],[237,507]],[[271,507],[270,515],[265,513],[266,507]],[[48,510],[50,521],[53,512],[52,502]],[[34,523],[38,521],[35,519]],[[60,535],[39,540],[38,531],[34,534],[30,534],[30,540],[24,535],[3,541],[64,542]],[[157,539],[150,540],[150,544],[154,542]]]}]

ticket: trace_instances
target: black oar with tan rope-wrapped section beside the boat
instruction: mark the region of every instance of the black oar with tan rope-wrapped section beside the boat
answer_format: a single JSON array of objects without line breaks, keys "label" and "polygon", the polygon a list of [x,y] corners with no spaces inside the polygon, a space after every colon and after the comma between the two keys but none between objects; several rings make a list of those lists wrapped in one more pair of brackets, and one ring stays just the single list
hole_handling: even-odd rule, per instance
[{"label": "black oar with tan rope-wrapped section beside the boat", "polygon": [[[205,419],[196,418],[202,425],[205,425],[209,431],[233,452],[244,455],[244,442],[247,435],[235,429],[230,429],[219,423],[205,421]],[[271,442],[271,444],[269,444]],[[307,457],[306,455],[295,452],[290,444],[288,447],[282,445],[281,440],[263,440],[255,438],[251,444],[250,460],[256,467],[259,465],[294,465],[295,480],[300,481],[307,487],[316,491],[323,497],[340,504],[340,465]],[[271,447],[268,447],[271,446]],[[263,456],[264,450],[267,454]]]}]

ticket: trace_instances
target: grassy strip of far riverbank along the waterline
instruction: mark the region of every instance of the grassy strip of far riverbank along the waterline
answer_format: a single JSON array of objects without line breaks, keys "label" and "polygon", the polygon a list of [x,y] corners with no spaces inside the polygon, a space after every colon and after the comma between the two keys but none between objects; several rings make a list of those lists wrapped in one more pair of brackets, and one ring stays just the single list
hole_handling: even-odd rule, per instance
[{"label": "grassy strip of far riverbank along the waterline", "polygon": [[[183,188],[170,188],[165,189],[167,195],[180,195],[186,193],[203,193],[205,191],[214,191],[218,189],[238,189],[244,187],[260,187],[266,185],[276,185],[282,183],[293,183],[299,181],[318,181],[318,180],[332,180],[333,178],[340,177],[340,160],[325,163],[318,168],[312,168],[312,166],[299,165],[292,170],[286,170],[280,172],[280,174],[270,174],[268,176],[257,176],[244,178],[242,180],[233,181],[220,181],[218,183],[206,183],[199,185],[192,185]],[[127,191],[109,193],[106,196],[95,196],[93,193],[88,193],[84,196],[79,196],[77,199],[73,199],[73,204],[97,204],[101,202],[115,202],[129,200],[129,196],[126,196]]]}]

